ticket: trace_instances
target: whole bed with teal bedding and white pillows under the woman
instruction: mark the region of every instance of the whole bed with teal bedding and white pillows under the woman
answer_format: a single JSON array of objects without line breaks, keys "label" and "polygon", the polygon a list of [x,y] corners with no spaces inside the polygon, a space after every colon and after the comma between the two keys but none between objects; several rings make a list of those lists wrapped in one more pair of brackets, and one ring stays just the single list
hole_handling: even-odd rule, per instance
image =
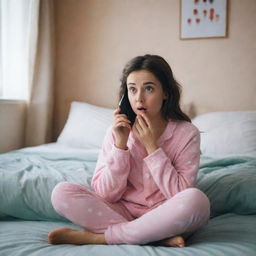
[{"label": "whole bed with teal bedding and white pillows under the woman", "polygon": [[186,240],[185,248],[48,244],[52,229],[79,229],[53,210],[51,191],[60,181],[90,188],[112,115],[112,109],[73,102],[55,143],[0,155],[1,256],[256,255],[256,111],[193,119],[201,132],[196,186],[211,201],[211,219]]}]

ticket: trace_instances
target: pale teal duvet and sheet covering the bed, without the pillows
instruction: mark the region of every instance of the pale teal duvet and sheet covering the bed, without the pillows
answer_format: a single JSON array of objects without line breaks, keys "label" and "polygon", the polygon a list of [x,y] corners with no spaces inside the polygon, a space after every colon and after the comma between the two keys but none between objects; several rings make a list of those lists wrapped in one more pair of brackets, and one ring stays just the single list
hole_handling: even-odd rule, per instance
[{"label": "pale teal duvet and sheet covering the bed, without the pillows", "polygon": [[201,157],[196,186],[209,197],[213,218],[186,240],[185,248],[48,244],[54,228],[79,229],[54,211],[52,189],[61,181],[90,188],[97,157],[22,150],[0,155],[1,256],[256,255],[256,159],[248,157]]}]

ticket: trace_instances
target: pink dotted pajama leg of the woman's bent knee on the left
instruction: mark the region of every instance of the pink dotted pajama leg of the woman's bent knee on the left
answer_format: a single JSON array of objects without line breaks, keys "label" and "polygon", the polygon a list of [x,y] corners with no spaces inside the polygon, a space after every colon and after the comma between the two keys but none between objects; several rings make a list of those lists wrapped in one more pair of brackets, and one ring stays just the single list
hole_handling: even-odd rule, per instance
[{"label": "pink dotted pajama leg of the woman's bent knee on the left", "polygon": [[120,203],[108,203],[85,187],[61,182],[52,191],[54,209],[73,223],[94,233],[104,233],[111,224],[133,220]]}]

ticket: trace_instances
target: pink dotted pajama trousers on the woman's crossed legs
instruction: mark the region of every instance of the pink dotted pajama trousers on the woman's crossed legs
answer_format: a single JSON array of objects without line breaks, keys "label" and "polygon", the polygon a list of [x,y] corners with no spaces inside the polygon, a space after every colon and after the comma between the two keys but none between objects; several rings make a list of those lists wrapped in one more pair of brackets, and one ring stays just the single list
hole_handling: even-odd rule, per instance
[{"label": "pink dotted pajama trousers on the woman's crossed legs", "polygon": [[60,215],[94,233],[104,233],[108,244],[147,244],[186,235],[207,224],[210,216],[209,200],[196,188],[177,193],[136,219],[122,203],[109,203],[75,183],[57,184],[51,200]]}]

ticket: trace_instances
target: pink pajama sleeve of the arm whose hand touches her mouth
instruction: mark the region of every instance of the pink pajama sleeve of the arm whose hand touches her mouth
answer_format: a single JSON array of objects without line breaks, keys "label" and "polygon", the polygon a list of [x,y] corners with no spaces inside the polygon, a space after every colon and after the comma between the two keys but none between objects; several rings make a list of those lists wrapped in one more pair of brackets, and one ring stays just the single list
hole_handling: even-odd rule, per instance
[{"label": "pink pajama sleeve of the arm whose hand touches her mouth", "polygon": [[200,161],[200,133],[196,127],[184,136],[178,136],[173,160],[162,148],[144,158],[156,186],[169,199],[178,192],[193,187]]}]

